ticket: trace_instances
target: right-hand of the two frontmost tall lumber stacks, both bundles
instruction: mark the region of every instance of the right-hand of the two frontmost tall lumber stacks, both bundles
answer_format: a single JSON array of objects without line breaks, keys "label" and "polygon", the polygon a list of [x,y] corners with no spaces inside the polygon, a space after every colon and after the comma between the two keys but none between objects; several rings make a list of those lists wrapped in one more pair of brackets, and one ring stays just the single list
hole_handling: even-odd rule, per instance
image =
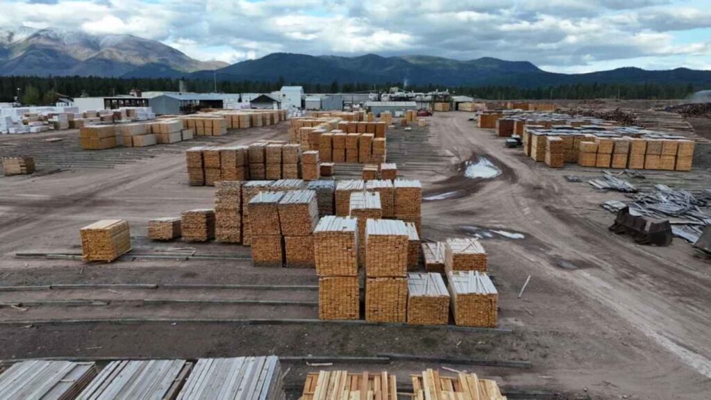
[{"label": "right-hand of the two frontmost tall lumber stacks, both bundles", "polygon": [[365,320],[405,322],[407,227],[369,219],[365,227]]}]

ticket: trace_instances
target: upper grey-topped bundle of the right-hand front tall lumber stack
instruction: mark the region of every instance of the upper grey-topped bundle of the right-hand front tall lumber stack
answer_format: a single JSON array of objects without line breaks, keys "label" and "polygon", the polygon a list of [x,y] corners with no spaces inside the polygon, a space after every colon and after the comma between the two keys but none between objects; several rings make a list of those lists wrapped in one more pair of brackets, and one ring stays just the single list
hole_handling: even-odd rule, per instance
[{"label": "upper grey-topped bundle of the right-hand front tall lumber stack", "polygon": [[389,219],[368,219],[365,226],[365,273],[368,278],[407,276],[407,227]]}]

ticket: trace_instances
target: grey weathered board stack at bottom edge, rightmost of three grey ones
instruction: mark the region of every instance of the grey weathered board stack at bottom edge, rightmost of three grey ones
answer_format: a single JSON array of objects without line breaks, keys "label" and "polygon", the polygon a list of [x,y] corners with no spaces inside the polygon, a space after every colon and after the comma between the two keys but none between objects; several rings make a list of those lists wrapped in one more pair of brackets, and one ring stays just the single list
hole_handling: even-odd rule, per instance
[{"label": "grey weathered board stack at bottom edge, rightmost of three grey ones", "polygon": [[177,400],[284,400],[279,357],[198,359]]}]

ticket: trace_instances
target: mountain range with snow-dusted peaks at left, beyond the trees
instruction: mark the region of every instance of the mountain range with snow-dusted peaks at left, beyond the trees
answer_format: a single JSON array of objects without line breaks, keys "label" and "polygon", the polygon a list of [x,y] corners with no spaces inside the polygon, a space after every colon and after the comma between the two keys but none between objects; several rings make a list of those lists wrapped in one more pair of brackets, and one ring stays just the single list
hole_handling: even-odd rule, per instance
[{"label": "mountain range with snow-dusted peaks at left, beyond the trees", "polygon": [[272,53],[228,65],[195,60],[159,41],[132,35],[91,35],[58,28],[0,28],[0,76],[81,75],[117,78],[282,80],[287,83],[402,83],[513,85],[537,88],[577,83],[673,83],[711,87],[711,71],[618,68],[582,74],[550,73],[528,61],[453,60],[433,56],[357,57]]}]

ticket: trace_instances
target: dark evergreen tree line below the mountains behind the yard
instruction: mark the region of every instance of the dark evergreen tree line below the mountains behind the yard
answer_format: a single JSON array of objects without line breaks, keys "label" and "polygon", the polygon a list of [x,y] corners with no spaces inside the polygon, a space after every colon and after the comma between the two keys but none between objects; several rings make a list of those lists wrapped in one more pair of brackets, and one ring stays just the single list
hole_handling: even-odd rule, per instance
[{"label": "dark evergreen tree line below the mountains behind the yard", "polygon": [[[363,93],[368,91],[385,91],[402,83],[339,83],[333,80],[330,84],[322,83],[287,83],[283,78],[274,82],[258,82],[250,80],[186,80],[189,92],[210,93],[215,88],[220,93],[269,93],[279,90],[282,85],[301,85],[306,93]],[[16,99],[27,105],[51,105],[57,100],[58,94],[70,98],[91,96],[126,95],[131,90],[142,91],[178,91],[178,79],[175,78],[98,78],[81,76],[62,77],[0,77],[0,102],[13,102]],[[486,100],[584,100],[594,98],[620,99],[680,99],[687,98],[697,90],[692,84],[576,84],[542,86],[540,88],[519,88],[517,86],[456,86],[450,88],[435,85],[410,85],[407,90],[429,92],[432,90],[449,89],[456,95],[469,95]]]}]

